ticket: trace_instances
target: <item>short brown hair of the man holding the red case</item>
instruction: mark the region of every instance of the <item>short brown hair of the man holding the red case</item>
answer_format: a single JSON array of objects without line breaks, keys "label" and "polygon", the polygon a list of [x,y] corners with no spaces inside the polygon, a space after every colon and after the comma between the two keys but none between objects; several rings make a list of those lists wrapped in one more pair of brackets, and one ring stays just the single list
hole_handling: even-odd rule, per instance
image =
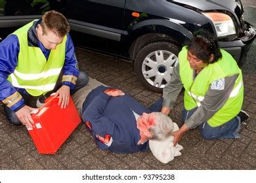
[{"label": "short brown hair of the man holding the red case", "polygon": [[64,37],[70,31],[70,24],[63,14],[54,10],[46,12],[41,21],[43,34],[53,31],[58,37]]}]

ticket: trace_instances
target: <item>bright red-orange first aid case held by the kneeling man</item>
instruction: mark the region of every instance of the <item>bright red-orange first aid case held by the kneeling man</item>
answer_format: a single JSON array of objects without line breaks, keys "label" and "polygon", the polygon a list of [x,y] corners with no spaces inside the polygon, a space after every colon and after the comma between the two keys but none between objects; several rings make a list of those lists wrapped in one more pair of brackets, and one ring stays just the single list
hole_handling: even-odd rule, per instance
[{"label": "bright red-orange first aid case held by the kneeling man", "polygon": [[49,97],[38,112],[32,114],[32,129],[28,129],[39,154],[55,154],[68,139],[81,119],[70,97],[66,108],[60,108],[58,97]]}]

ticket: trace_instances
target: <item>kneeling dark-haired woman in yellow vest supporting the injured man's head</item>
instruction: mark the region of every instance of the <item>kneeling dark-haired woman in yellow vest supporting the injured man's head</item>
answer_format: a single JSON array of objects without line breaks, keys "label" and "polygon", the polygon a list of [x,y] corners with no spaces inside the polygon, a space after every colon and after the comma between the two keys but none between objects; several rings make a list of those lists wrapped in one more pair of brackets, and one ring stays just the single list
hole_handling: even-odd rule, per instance
[{"label": "kneeling dark-haired woman in yellow vest supporting the injured man's head", "polygon": [[200,30],[182,48],[171,82],[163,89],[161,112],[169,114],[182,88],[184,124],[173,133],[174,145],[197,126],[204,139],[240,138],[240,124],[249,117],[241,110],[242,72],[234,58],[219,48],[213,34]]}]

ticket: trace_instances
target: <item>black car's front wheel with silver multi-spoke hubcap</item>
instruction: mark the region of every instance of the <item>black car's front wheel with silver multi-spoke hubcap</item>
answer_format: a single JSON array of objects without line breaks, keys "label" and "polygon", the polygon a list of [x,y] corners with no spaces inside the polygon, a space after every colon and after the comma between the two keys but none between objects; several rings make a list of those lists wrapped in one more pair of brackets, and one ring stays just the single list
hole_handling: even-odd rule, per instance
[{"label": "black car's front wheel with silver multi-spoke hubcap", "polygon": [[135,73],[140,83],[148,90],[161,93],[171,80],[180,49],[172,42],[152,42],[144,46],[135,58]]}]

